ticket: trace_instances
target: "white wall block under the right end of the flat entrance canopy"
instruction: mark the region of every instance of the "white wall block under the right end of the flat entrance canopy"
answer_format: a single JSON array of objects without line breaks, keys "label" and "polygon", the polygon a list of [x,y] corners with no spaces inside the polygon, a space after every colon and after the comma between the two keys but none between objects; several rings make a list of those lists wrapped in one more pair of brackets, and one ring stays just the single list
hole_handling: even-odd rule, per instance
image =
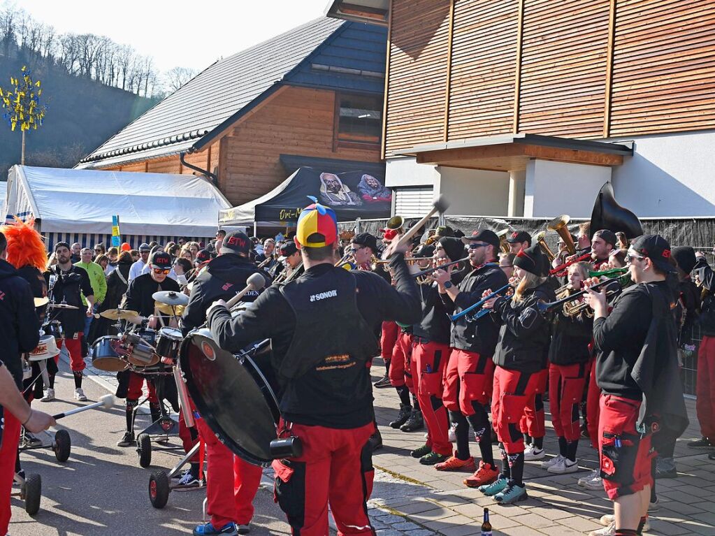
[{"label": "white wall block under the right end of the flat entrance canopy", "polygon": [[526,165],[524,217],[591,217],[593,200],[610,179],[610,167],[531,160]]}]

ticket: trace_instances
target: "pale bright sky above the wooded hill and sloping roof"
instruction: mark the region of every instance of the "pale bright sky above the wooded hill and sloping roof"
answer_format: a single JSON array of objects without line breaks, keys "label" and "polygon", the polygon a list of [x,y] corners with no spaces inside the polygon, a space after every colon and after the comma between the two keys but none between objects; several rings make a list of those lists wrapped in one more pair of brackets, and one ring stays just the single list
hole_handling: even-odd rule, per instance
[{"label": "pale bright sky above the wooded hill and sloping roof", "polygon": [[106,35],[152,56],[159,71],[201,71],[272,36],[323,16],[328,0],[0,0],[63,34]]}]

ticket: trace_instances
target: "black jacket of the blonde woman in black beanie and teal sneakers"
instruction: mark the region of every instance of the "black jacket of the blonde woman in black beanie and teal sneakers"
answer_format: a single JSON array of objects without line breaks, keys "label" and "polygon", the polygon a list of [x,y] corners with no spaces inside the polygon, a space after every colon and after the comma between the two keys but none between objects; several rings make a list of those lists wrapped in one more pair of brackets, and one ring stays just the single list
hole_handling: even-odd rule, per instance
[{"label": "black jacket of the blonde woman in black beanie and teal sneakers", "polygon": [[548,282],[528,289],[521,303],[500,297],[494,303],[493,314],[501,318],[494,362],[504,369],[538,372],[546,367],[550,319],[544,317],[536,305],[553,302],[556,296]]}]

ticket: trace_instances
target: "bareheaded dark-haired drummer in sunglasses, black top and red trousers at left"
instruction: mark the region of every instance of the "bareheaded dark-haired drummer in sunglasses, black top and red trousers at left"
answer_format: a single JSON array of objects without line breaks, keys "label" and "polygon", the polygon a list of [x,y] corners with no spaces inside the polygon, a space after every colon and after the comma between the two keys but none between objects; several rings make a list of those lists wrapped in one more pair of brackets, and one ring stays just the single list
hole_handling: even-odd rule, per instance
[{"label": "bareheaded dark-haired drummer in sunglasses, black top and red trousers at left", "polygon": [[[77,309],[54,309],[50,313],[52,319],[58,319],[62,327],[62,339],[57,342],[57,349],[61,350],[64,342],[74,376],[74,399],[85,402],[87,397],[82,391],[82,371],[86,364],[82,356],[82,337],[85,318],[93,314],[94,291],[87,271],[72,264],[69,244],[57,242],[54,252],[57,256],[57,264],[45,273],[50,301],[66,302],[77,307]],[[82,306],[83,294],[87,299],[87,307]],[[49,387],[54,390],[54,374],[49,374]]]}]

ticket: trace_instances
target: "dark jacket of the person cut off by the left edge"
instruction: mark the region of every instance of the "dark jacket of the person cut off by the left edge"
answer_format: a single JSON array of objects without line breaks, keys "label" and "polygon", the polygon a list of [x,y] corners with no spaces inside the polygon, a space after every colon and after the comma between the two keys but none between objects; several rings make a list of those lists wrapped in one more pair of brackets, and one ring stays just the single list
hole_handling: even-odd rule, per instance
[{"label": "dark jacket of the person cut off by the left edge", "polygon": [[0,355],[18,389],[22,386],[20,354],[37,346],[39,330],[29,283],[12,264],[0,259]]}]

